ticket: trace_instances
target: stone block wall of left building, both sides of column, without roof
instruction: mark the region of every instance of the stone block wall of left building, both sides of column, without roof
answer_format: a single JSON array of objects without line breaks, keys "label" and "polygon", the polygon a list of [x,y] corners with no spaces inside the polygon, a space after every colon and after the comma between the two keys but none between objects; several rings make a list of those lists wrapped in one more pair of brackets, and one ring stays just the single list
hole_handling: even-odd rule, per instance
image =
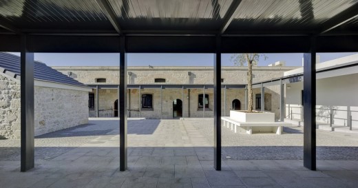
[{"label": "stone block wall of left building, both sides of column, without roof", "polygon": [[[88,92],[34,87],[35,136],[88,123]],[[0,137],[21,137],[20,82],[0,74]]]}]

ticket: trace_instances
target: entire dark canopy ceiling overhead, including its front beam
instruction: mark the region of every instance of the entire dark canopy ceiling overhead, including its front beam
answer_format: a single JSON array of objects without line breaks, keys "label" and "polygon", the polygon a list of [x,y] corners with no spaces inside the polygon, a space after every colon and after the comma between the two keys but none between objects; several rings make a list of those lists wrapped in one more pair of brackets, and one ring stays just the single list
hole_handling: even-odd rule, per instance
[{"label": "entire dark canopy ceiling overhead, including its front beam", "polygon": [[306,52],[314,35],[319,51],[357,51],[357,16],[357,0],[6,0],[0,39],[29,34],[34,52],[118,52],[124,34],[128,52],[213,52],[220,35],[222,52]]}]

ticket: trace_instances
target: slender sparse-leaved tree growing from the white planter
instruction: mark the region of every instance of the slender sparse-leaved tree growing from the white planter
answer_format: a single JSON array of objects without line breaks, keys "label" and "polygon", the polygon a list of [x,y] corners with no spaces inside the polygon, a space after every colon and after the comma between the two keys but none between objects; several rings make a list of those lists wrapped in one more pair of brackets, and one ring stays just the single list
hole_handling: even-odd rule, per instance
[{"label": "slender sparse-leaved tree growing from the white planter", "polygon": [[[249,95],[249,103],[247,105],[247,111],[253,112],[253,65],[257,66],[259,62],[260,56],[267,59],[267,56],[264,54],[233,54],[231,56],[231,61],[238,66],[247,65],[248,72],[247,72],[247,90]],[[261,96],[264,97],[264,96]],[[264,104],[262,104],[264,105]]]}]

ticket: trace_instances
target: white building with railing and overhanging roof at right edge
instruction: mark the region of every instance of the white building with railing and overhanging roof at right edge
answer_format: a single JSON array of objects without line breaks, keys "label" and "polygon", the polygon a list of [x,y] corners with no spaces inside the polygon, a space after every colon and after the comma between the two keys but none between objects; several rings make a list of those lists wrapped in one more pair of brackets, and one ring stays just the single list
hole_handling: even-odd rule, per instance
[{"label": "white building with railing and overhanging roof at right edge", "polygon": [[[358,129],[358,54],[317,63],[316,70],[317,128]],[[284,72],[284,77],[297,78],[286,84],[285,121],[299,125],[303,125],[302,74],[303,67]]]}]

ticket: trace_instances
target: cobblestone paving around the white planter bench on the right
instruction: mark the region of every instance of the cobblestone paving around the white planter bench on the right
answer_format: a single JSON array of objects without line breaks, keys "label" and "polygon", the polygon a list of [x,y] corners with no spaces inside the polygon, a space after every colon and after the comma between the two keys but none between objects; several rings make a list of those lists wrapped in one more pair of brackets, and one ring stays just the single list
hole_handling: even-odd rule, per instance
[{"label": "cobblestone paving around the white planter bench on the right", "polygon": [[[213,120],[184,121],[213,144]],[[222,126],[222,160],[303,159],[303,127],[284,127],[284,134],[235,134]],[[358,160],[358,134],[317,130],[317,159]]]}]

